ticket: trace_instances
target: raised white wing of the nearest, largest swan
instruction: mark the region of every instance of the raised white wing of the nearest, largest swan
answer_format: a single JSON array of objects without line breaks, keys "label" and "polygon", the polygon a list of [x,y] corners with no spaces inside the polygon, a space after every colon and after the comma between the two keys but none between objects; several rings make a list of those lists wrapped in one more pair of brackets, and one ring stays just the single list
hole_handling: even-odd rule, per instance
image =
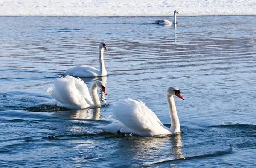
[{"label": "raised white wing of the nearest, largest swan", "polygon": [[157,116],[141,101],[126,99],[113,110],[113,118],[135,131],[156,132],[161,129]]}]

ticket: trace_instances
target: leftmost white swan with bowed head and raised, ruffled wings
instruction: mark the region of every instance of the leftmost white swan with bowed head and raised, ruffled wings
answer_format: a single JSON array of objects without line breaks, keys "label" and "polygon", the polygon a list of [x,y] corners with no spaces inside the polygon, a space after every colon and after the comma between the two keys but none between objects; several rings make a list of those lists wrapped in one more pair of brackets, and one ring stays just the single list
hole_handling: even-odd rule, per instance
[{"label": "leftmost white swan with bowed head and raised, ruffled wings", "polygon": [[107,95],[102,81],[94,82],[91,87],[91,97],[88,87],[80,78],[73,76],[56,78],[54,80],[54,88],[49,87],[47,89],[47,93],[55,99],[45,104],[66,107],[67,109],[90,108],[101,104],[97,94],[97,87]]}]

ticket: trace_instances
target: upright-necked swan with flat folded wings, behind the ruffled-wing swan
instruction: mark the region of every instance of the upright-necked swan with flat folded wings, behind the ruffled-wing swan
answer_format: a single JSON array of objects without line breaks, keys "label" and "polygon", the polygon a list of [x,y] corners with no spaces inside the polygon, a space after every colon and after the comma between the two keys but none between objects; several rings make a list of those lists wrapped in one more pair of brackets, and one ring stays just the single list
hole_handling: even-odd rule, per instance
[{"label": "upright-necked swan with flat folded wings, behind the ruffled-wing swan", "polygon": [[99,77],[107,76],[107,70],[104,66],[104,48],[108,50],[105,42],[99,43],[99,65],[100,68],[97,70],[89,65],[78,65],[65,71],[63,75],[77,76],[77,77]]}]

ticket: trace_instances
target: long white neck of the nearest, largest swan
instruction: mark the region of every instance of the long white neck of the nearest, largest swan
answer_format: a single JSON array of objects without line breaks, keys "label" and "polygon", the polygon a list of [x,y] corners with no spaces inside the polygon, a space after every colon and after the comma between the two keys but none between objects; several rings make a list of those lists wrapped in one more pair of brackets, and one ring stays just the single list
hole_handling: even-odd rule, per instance
[{"label": "long white neck of the nearest, largest swan", "polygon": [[169,95],[166,95],[166,96],[167,96],[170,117],[171,117],[171,130],[173,131],[172,133],[180,132],[180,121],[177,115],[174,98],[173,96],[169,96]]}]

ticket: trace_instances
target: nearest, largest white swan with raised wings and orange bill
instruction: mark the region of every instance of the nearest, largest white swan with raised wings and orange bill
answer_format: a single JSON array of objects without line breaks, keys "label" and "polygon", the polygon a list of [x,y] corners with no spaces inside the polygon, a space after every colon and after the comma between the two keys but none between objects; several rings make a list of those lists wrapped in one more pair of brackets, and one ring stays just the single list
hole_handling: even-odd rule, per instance
[{"label": "nearest, largest white swan with raised wings and orange bill", "polygon": [[169,87],[166,91],[171,117],[171,127],[164,126],[151,109],[142,101],[126,99],[113,109],[111,118],[117,120],[106,126],[96,126],[105,132],[114,134],[133,133],[140,136],[169,135],[180,132],[180,121],[177,115],[174,96],[184,100],[177,87]]}]

